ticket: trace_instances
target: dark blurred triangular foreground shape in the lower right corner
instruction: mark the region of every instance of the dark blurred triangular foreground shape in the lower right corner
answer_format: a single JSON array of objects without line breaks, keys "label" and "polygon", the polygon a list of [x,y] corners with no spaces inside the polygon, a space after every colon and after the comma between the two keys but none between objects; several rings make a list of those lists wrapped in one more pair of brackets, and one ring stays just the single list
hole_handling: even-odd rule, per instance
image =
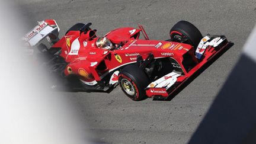
[{"label": "dark blurred triangular foreground shape in the lower right corner", "polygon": [[255,74],[256,63],[242,54],[188,143],[256,143]]}]

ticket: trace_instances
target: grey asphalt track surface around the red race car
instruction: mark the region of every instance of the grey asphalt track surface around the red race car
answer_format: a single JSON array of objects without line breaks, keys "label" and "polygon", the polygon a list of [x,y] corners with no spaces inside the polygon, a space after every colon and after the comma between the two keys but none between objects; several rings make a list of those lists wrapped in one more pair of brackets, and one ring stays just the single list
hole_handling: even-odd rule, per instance
[{"label": "grey asphalt track surface around the red race car", "polygon": [[26,0],[17,8],[30,28],[52,18],[60,36],[75,23],[92,23],[98,36],[142,24],[150,39],[166,40],[180,20],[203,35],[224,34],[234,43],[171,101],[130,100],[120,87],[110,94],[63,92],[97,139],[108,143],[187,143],[235,66],[256,21],[256,1]]}]

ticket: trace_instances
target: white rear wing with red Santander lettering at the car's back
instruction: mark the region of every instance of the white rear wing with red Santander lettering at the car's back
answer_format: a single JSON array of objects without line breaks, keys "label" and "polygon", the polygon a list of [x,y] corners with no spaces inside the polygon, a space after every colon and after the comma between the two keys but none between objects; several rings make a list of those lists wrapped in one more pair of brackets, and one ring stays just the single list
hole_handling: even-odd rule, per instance
[{"label": "white rear wing with red Santander lettering at the car's back", "polygon": [[52,46],[59,41],[59,26],[55,20],[38,21],[38,25],[25,34],[22,40],[28,47],[36,47],[46,38]]}]

